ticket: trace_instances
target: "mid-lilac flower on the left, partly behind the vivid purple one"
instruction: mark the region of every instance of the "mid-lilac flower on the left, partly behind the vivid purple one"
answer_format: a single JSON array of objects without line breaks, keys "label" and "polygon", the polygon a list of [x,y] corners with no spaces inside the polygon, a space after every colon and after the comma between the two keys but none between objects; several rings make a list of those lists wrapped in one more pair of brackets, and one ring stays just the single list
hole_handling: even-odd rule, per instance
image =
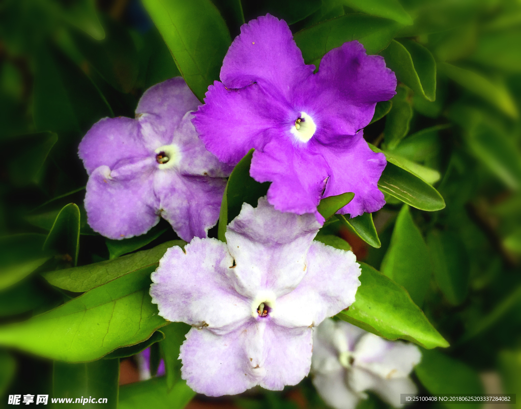
[{"label": "mid-lilac flower on the left, partly behind the vivid purple one", "polygon": [[181,77],[145,91],[136,118],[103,118],[79,146],[89,174],[89,225],[122,239],[146,233],[162,216],[183,240],[206,237],[219,218],[222,164],[191,123],[199,101]]}]

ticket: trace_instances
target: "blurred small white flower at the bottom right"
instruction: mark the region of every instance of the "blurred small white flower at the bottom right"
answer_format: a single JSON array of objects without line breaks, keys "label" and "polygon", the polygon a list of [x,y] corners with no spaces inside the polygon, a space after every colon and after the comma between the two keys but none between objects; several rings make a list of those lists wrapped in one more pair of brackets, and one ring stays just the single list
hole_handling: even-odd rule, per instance
[{"label": "blurred small white flower at the bottom right", "polygon": [[354,409],[364,391],[395,407],[401,393],[416,394],[409,377],[421,360],[416,345],[387,341],[347,322],[327,319],[313,336],[313,384],[335,409]]}]

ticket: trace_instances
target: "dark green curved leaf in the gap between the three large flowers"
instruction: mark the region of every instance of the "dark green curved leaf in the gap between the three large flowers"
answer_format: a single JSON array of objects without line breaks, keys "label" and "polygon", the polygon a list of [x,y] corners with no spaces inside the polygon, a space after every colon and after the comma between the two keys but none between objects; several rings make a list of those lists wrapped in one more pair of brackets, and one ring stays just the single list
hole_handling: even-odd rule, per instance
[{"label": "dark green curved leaf in the gap between the three large flowers", "polygon": [[249,203],[257,207],[259,197],[266,195],[269,182],[258,183],[250,176],[253,149],[235,165],[226,184],[225,194],[221,202],[219,226],[217,235],[219,240],[226,242],[226,226],[241,212],[242,203]]}]

